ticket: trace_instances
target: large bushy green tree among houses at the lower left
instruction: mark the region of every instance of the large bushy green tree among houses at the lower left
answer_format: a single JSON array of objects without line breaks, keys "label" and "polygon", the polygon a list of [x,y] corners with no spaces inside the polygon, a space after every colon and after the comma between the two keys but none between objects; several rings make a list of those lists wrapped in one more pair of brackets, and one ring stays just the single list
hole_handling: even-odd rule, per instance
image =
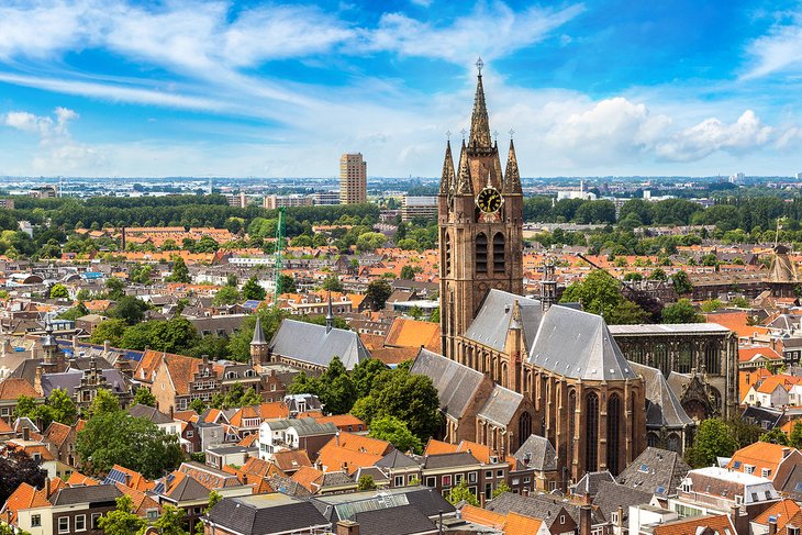
[{"label": "large bushy green tree among houses at the lower left", "polygon": [[112,466],[123,465],[157,479],[183,458],[176,435],[122,410],[93,414],[78,433],[76,449],[88,475],[105,473]]}]

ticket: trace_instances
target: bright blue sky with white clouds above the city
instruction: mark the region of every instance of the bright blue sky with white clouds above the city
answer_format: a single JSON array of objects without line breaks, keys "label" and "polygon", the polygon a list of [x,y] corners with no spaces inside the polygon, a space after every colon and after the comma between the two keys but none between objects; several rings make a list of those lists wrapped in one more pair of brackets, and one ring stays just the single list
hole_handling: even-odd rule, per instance
[{"label": "bright blue sky with white clouds above the city", "polygon": [[[525,176],[802,171],[802,3],[0,0],[0,175],[436,176],[484,60]],[[456,134],[459,138],[459,134]]]}]

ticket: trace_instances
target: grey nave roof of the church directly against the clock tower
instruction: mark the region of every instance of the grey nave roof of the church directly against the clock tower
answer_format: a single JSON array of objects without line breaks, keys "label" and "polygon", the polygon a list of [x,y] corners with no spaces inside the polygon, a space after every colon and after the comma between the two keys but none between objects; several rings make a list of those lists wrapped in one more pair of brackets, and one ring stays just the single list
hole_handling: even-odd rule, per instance
[{"label": "grey nave roof of the church directly against the clock tower", "polygon": [[491,289],[488,293],[479,313],[465,332],[465,337],[503,350],[515,301],[521,309],[526,347],[532,347],[543,316],[543,305],[537,300],[495,289]]}]

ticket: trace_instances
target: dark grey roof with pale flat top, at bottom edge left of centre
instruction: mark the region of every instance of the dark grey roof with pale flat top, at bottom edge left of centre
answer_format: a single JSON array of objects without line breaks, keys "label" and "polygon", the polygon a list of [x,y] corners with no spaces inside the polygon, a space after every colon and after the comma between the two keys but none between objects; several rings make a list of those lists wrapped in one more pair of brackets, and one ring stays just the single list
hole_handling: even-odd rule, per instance
[{"label": "dark grey roof with pale flat top, at bottom edge left of centre", "polygon": [[209,519],[246,535],[305,532],[331,524],[312,503],[281,493],[224,498],[209,512]]}]

